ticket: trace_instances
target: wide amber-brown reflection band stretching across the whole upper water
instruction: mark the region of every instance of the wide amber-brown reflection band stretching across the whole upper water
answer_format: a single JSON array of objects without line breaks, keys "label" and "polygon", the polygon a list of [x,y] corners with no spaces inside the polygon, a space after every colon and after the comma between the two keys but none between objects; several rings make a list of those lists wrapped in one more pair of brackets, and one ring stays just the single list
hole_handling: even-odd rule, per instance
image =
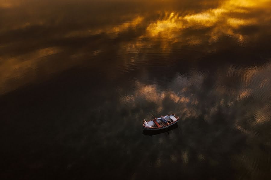
[{"label": "wide amber-brown reflection band stretching across the whole upper water", "polygon": [[[201,3],[199,1],[199,4],[208,5],[208,3],[210,2],[203,1]],[[251,41],[251,39],[257,39],[259,33],[257,31],[247,33],[241,29],[250,26],[266,26],[271,19],[270,10],[267,8],[270,7],[271,3],[268,0],[257,2],[251,0],[228,0],[220,1],[218,4],[217,7],[212,6],[210,8],[203,6],[204,8],[200,10],[187,7],[185,10],[174,9],[172,11],[164,11],[159,7],[153,9],[150,7],[148,12],[113,16],[112,19],[114,21],[105,24],[99,23],[100,20],[97,18],[98,25],[92,23],[92,25],[87,26],[89,19],[96,17],[91,15],[84,16],[83,19],[70,20],[69,18],[73,16],[69,15],[68,10],[67,12],[55,11],[52,8],[52,12],[48,14],[47,11],[43,10],[43,7],[39,7],[37,4],[33,4],[32,7],[27,3],[23,3],[23,1],[1,0],[0,8],[5,10],[3,11],[5,18],[2,19],[3,26],[0,30],[1,36],[5,39],[5,43],[0,44],[1,49],[3,49],[0,54],[0,59],[3,62],[0,65],[0,68],[3,69],[0,73],[2,93],[11,90],[7,84],[13,78],[25,76],[38,67],[51,67],[51,65],[46,63],[40,63],[42,58],[40,52],[44,52],[46,49],[57,49],[53,51],[54,53],[50,54],[50,50],[48,55],[44,55],[49,56],[73,49],[72,45],[70,45],[68,47],[69,50],[67,50],[65,41],[91,38],[98,35],[116,39],[125,33],[136,32],[138,35],[129,41],[127,41],[127,38],[122,39],[120,47],[117,49],[118,54],[121,54],[123,57],[123,63],[126,64],[130,63],[130,61],[135,62],[139,58],[138,53],[157,53],[157,49],[154,49],[155,46],[159,46],[161,53],[164,54],[172,52],[172,49],[176,48],[173,46],[177,46],[177,48],[185,46],[196,48],[195,46],[197,46],[200,47],[201,51],[216,52],[219,50],[219,46],[210,45],[215,44],[225,35],[230,36],[237,44],[243,45],[247,41]],[[106,14],[107,12],[103,13]],[[82,21],[82,24],[76,24],[76,20]],[[70,24],[74,25],[68,26]],[[32,34],[35,34],[37,31],[36,28],[44,29],[38,36],[36,35],[37,39],[32,38]],[[195,30],[198,31],[195,32]],[[25,32],[28,32],[28,34],[20,35],[20,33]],[[13,34],[15,38],[13,38]],[[9,35],[9,38],[5,38],[7,35]],[[60,41],[64,41],[64,43],[61,42],[61,45],[55,47],[54,43],[48,43],[50,41],[57,44]],[[91,42],[92,40],[88,41]],[[17,52],[18,48],[21,49],[21,47],[25,46],[29,46],[30,50]],[[84,55],[89,53],[97,56],[103,52],[102,46],[90,49],[90,52],[85,52],[83,46],[81,48],[83,50],[70,53],[68,55],[70,57],[67,58],[84,58]],[[5,53],[7,51],[9,52]],[[131,53],[134,54],[133,57],[128,55]],[[198,53],[198,56],[201,56],[200,53]],[[54,72],[61,72],[75,66],[77,62],[69,60],[67,64],[69,65],[55,67]],[[44,69],[47,69],[47,74],[52,72],[50,68]],[[31,76],[30,79],[25,79],[26,83],[33,81],[35,78]],[[16,86],[19,87],[20,85],[14,85],[12,89],[16,89]]]}]

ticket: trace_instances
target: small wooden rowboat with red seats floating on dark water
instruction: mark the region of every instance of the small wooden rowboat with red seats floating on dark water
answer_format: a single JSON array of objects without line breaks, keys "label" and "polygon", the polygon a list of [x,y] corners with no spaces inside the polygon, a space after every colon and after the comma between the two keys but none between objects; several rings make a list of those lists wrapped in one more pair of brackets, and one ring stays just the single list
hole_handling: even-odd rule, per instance
[{"label": "small wooden rowboat with red seats floating on dark water", "polygon": [[160,121],[159,119],[155,118],[150,121],[147,121],[148,125],[150,125],[152,128],[147,128],[144,126],[143,126],[143,128],[146,130],[160,130],[160,129],[168,128],[168,127],[176,124],[179,121],[179,117],[177,117],[175,114],[170,114],[166,117],[166,120],[167,120],[167,122],[170,123],[169,125],[167,125],[163,121]]}]

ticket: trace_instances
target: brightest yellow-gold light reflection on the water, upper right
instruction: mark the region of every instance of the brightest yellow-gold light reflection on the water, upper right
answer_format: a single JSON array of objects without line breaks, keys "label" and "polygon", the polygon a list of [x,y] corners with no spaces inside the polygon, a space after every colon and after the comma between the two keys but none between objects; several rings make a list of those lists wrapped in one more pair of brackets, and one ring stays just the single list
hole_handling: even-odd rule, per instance
[{"label": "brightest yellow-gold light reflection on the water, upper right", "polygon": [[[231,35],[236,37],[240,42],[244,41],[245,37],[241,33],[236,32],[240,26],[251,26],[270,20],[270,13],[267,11],[267,17],[245,17],[244,14],[249,14],[249,8],[252,10],[261,9],[269,6],[270,1],[225,1],[221,6],[208,9],[200,13],[188,13],[182,16],[178,12],[165,12],[163,19],[158,19],[147,27],[147,34],[150,36],[162,39],[164,45],[162,47],[169,47],[169,44],[182,42],[183,44],[198,45],[202,43],[203,36],[209,36],[209,43],[216,42],[222,35]],[[235,13],[241,13],[236,14]],[[240,15],[240,17],[238,17]],[[160,14],[163,16],[163,13]],[[211,28],[208,34],[200,35],[182,35],[186,28],[203,29]],[[192,39],[192,40],[191,40]]]}]

